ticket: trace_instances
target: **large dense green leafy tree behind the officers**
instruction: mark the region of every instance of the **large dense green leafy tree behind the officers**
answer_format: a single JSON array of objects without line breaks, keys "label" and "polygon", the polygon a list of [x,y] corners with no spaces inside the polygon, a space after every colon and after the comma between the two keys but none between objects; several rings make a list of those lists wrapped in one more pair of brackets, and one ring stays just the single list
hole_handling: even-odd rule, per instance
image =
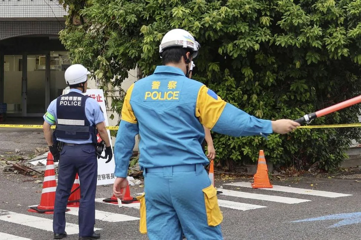
[{"label": "large dense green leafy tree behind the officers", "polygon": [[[63,44],[105,91],[135,67],[151,74],[162,36],[183,28],[201,44],[193,78],[256,117],[296,119],[360,94],[361,0],[60,2],[69,7]],[[119,113],[121,99],[112,106]],[[355,105],[313,123],[355,123],[359,113]],[[214,133],[214,145],[228,170],[255,162],[260,149],[275,164],[330,170],[360,138],[359,128],[300,128],[268,140]]]}]

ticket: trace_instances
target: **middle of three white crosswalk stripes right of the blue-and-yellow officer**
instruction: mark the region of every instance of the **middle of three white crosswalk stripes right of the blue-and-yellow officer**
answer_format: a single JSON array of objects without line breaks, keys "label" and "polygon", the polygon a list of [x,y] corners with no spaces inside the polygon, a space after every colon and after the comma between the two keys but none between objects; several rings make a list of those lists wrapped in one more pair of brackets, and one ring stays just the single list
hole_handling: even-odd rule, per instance
[{"label": "middle of three white crosswalk stripes right of the blue-and-yellow officer", "polygon": [[298,198],[287,198],[282,196],[272,196],[272,195],[265,195],[265,194],[256,194],[256,193],[246,193],[241,191],[233,191],[233,190],[227,190],[222,189],[220,190],[223,193],[221,195],[226,196],[233,196],[238,198],[250,198],[250,199],[257,199],[257,200],[265,200],[265,201],[274,201],[278,203],[287,203],[287,204],[293,204],[293,203],[303,203],[305,201],[311,201],[306,199],[298,199]]}]

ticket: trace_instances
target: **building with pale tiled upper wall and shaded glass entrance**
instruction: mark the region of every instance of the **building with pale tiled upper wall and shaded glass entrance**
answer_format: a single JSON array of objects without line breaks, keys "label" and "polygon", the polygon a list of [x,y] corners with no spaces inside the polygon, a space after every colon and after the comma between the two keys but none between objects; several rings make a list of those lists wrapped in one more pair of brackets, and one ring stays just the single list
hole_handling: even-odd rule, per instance
[{"label": "building with pale tiled upper wall and shaded glass entrance", "polygon": [[[65,89],[71,61],[58,33],[67,14],[57,0],[0,1],[0,103],[6,103],[7,116],[42,117]],[[135,70],[130,73],[124,90],[136,81]],[[89,80],[88,87],[97,88],[96,82]],[[117,94],[110,92],[107,100]],[[109,124],[117,121],[109,119]]]}]

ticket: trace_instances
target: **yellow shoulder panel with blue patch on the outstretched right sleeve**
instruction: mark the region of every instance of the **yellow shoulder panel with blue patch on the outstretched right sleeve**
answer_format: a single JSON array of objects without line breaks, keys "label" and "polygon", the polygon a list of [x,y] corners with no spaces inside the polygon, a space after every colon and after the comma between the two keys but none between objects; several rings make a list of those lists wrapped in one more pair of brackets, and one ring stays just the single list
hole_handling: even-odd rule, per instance
[{"label": "yellow shoulder panel with blue patch on the outstretched right sleeve", "polygon": [[[213,94],[209,94],[209,93]],[[205,85],[201,86],[197,96],[196,117],[208,129],[212,130],[221,116],[226,102]]]}]

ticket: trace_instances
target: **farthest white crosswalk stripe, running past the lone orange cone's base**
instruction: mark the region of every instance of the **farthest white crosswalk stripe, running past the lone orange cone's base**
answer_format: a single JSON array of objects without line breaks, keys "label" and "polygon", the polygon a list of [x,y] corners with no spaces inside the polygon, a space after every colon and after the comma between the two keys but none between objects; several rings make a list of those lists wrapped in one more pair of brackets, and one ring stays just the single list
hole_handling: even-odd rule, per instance
[{"label": "farthest white crosswalk stripe, running past the lone orange cone's base", "polygon": [[[252,187],[250,182],[234,182],[224,185],[230,186],[238,186],[238,187]],[[305,194],[305,195],[314,195],[314,196],[322,196],[327,198],[338,198],[344,196],[352,196],[351,194],[343,194],[343,193],[333,193],[327,191],[319,191],[319,190],[312,190],[312,189],[302,189],[297,187],[286,187],[286,186],[278,186],[273,185],[273,188],[261,188],[270,191],[280,191],[285,193],[298,193],[298,194]]]}]

